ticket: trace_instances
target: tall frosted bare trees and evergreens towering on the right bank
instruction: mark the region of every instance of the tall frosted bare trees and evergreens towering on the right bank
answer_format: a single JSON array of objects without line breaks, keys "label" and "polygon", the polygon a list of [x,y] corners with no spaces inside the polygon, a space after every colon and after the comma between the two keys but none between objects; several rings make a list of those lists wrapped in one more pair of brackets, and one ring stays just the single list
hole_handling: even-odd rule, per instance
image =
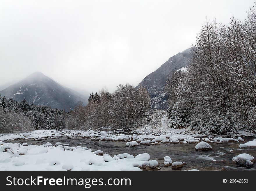
[{"label": "tall frosted bare trees and evergreens towering on the right bank", "polygon": [[187,72],[167,80],[173,126],[200,132],[256,133],[256,10],[244,22],[206,22]]}]

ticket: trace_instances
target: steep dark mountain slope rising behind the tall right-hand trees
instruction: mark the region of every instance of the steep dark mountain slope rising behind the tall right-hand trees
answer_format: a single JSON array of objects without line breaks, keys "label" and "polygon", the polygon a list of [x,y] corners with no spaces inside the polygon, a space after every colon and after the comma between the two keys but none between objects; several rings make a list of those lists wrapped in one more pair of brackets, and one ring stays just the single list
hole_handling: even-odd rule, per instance
[{"label": "steep dark mountain slope rising behind the tall right-hand trees", "polygon": [[164,88],[166,85],[167,76],[182,67],[188,65],[188,59],[190,58],[189,49],[183,52],[177,53],[167,60],[163,65],[161,65],[156,71],[147,75],[139,86],[147,89],[150,93],[152,101],[152,109],[167,110],[167,98]]}]

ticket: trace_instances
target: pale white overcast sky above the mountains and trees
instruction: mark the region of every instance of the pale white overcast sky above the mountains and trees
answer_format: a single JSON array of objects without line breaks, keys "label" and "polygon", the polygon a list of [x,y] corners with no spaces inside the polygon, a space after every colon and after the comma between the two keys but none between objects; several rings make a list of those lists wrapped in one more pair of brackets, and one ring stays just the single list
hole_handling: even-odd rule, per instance
[{"label": "pale white overcast sky above the mountains and trees", "polygon": [[0,85],[40,71],[95,92],[138,85],[195,43],[205,19],[241,20],[253,0],[0,1]]}]

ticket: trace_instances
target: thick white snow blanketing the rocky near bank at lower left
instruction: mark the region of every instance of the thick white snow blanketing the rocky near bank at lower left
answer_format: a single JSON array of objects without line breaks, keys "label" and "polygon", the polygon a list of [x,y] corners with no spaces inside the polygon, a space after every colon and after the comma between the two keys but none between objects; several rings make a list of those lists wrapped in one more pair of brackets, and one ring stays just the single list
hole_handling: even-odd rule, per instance
[{"label": "thick white snow blanketing the rocky near bank at lower left", "polygon": [[[94,154],[101,153],[99,150],[92,152],[80,146],[65,146],[65,150],[45,144],[22,146],[3,143],[0,147],[0,170],[140,170],[143,166],[154,168],[158,165],[157,160],[150,160],[148,153],[136,157],[120,153],[112,157],[106,153],[99,156]],[[4,147],[12,148],[14,154],[9,149],[4,151]],[[18,153],[26,155],[15,155]]]}]

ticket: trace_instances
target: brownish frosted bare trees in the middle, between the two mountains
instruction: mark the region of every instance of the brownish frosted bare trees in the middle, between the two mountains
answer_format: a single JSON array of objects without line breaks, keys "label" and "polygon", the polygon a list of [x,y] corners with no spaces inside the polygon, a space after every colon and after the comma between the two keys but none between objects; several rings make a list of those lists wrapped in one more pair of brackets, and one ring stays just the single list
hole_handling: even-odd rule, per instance
[{"label": "brownish frosted bare trees in the middle, between the two mountains", "polygon": [[88,105],[78,103],[66,120],[68,128],[123,128],[131,130],[140,124],[150,110],[150,95],[145,88],[119,85],[109,93],[106,88],[92,93]]}]

